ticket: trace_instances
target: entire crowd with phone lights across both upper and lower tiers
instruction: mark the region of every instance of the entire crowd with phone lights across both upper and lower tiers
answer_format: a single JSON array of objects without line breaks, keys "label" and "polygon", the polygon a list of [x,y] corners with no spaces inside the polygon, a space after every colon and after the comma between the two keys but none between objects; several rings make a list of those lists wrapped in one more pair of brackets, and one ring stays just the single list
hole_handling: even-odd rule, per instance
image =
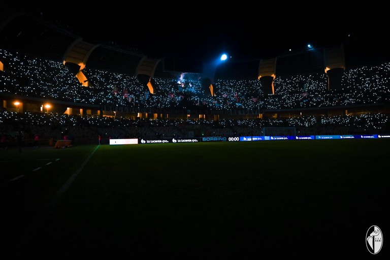
[{"label": "entire crowd with phone lights across both upper and lower tiers", "polygon": [[[216,80],[214,95],[199,79],[154,78],[150,93],[136,76],[83,70],[90,85],[80,84],[62,63],[0,49],[2,93],[78,104],[115,104],[128,107],[182,109],[299,109],[388,104],[390,63],[345,71],[342,89],[328,90],[326,73],[274,79],[275,94],[265,94],[259,80]],[[289,118],[219,120],[147,119],[42,113],[0,113],[0,132],[23,131],[26,140],[36,134],[41,142],[70,136],[80,143],[104,138],[164,138],[191,136],[262,136],[264,127],[296,127],[297,135],[388,134],[388,113]]]}]

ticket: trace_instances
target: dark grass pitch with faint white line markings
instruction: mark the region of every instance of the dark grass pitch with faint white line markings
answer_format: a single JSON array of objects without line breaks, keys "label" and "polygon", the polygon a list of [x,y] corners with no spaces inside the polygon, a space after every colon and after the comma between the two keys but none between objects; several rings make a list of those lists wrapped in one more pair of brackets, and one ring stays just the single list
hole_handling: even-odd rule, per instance
[{"label": "dark grass pitch with faint white line markings", "polygon": [[15,258],[370,256],[370,226],[390,234],[389,145],[2,149],[2,246]]}]

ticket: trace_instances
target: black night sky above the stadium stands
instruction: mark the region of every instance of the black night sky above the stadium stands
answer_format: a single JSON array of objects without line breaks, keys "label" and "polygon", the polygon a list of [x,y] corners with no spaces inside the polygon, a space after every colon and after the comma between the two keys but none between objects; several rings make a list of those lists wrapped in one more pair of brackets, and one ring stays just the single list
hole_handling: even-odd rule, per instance
[{"label": "black night sky above the stadium stands", "polygon": [[151,3],[134,7],[131,3],[64,4],[61,8],[9,8],[67,24],[86,42],[114,42],[137,48],[151,58],[209,61],[226,52],[236,60],[261,59],[302,51],[307,44],[346,44],[357,55],[356,60],[390,60],[386,23],[382,21],[386,16],[378,14],[378,7],[373,14],[370,7],[354,7],[351,12],[331,5],[303,9],[278,6],[280,11],[276,11],[275,3],[273,9],[248,5],[219,9],[196,3],[157,7]]}]

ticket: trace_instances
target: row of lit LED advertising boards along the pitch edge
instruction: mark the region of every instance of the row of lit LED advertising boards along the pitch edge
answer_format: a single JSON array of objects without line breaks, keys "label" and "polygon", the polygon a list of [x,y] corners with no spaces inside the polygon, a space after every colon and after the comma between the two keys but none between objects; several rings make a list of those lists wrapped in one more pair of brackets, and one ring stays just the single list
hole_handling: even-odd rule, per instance
[{"label": "row of lit LED advertising boards along the pitch edge", "polygon": [[380,139],[390,138],[389,135],[318,135],[318,136],[241,136],[241,137],[194,137],[194,138],[133,138],[110,139],[110,145],[120,144],[168,144],[168,143],[202,143],[202,142],[248,142],[274,140],[331,140],[331,139]]}]

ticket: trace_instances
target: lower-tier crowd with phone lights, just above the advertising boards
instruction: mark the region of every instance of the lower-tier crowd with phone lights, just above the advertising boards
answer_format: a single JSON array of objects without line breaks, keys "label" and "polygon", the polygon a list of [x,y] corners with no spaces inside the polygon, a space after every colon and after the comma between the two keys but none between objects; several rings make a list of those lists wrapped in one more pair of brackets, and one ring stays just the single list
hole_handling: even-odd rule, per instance
[{"label": "lower-tier crowd with phone lights, just above the advertising boards", "polygon": [[[81,117],[55,113],[0,113],[0,133],[22,131],[25,140],[40,136],[40,142],[62,140],[64,136],[79,144],[103,139],[123,138],[190,138],[201,136],[263,136],[265,127],[295,127],[297,136],[388,134],[390,118],[372,113],[359,116],[302,116],[267,119],[128,119]],[[269,130],[269,129],[268,129]],[[267,132],[279,135],[279,133]],[[31,142],[30,142],[31,143]]]}]

